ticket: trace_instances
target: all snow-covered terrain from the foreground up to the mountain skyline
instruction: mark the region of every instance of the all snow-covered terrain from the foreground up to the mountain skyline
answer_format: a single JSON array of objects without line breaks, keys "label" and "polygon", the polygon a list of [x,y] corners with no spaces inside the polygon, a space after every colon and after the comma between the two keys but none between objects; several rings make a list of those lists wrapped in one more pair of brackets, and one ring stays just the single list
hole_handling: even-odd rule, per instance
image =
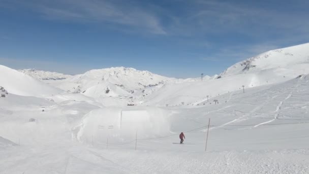
[{"label": "all snow-covered terrain from the foreground up to the mountain skyline", "polygon": [[0,66],[0,173],[309,173],[309,44],[279,50],[204,81]]}]

